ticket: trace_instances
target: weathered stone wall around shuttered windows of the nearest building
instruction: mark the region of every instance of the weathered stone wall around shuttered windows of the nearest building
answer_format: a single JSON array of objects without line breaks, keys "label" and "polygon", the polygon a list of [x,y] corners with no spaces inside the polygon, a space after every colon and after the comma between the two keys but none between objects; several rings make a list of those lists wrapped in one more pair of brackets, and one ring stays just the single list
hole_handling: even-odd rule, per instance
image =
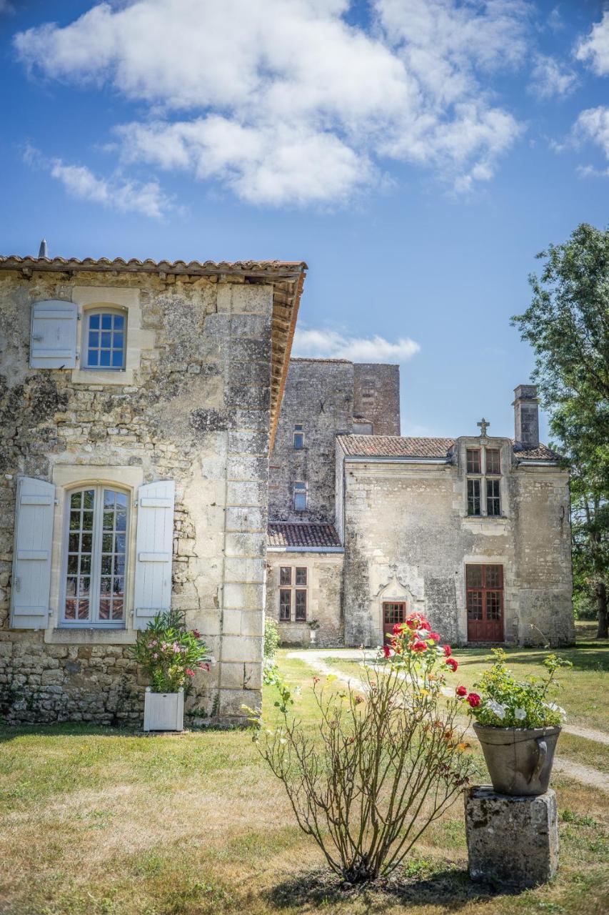
[{"label": "weathered stone wall around shuttered windows of the nearest building", "polygon": [[[48,298],[128,308],[130,383],[28,368],[31,304]],[[66,467],[176,480],[172,605],[217,659],[197,674],[187,708],[235,720],[242,703],[259,704],[271,317],[272,287],[240,276],[0,274],[0,714],[9,721],[141,721],[144,683],[125,657],[130,618],[126,630],[59,628],[57,544],[48,629],[9,628],[16,476],[53,482]]]}]

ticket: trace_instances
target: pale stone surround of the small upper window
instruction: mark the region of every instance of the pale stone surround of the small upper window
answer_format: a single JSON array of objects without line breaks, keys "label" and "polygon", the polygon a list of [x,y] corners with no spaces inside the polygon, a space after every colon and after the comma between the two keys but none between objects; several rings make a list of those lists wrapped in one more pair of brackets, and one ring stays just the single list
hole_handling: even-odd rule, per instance
[{"label": "pale stone surround of the small upper window", "polygon": [[[142,350],[154,350],[155,331],[142,327],[140,290],[126,286],[75,285],[71,289],[72,302],[78,307],[79,320],[76,328],[76,351],[79,356],[78,368],[72,369],[71,382],[75,384],[133,384],[134,372],[140,367]],[[127,337],[125,340],[124,369],[88,369],[85,365],[86,314],[93,309],[112,308],[123,311],[126,317]]]}]

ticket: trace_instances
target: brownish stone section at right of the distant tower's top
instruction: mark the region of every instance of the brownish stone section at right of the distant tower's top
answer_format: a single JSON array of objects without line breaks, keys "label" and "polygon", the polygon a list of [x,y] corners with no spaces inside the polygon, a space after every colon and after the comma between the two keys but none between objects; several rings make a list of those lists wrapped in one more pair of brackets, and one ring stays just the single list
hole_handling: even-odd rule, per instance
[{"label": "brownish stone section at right of the distant tower's top", "polygon": [[400,366],[353,365],[353,414],[372,423],[375,436],[400,435]]}]

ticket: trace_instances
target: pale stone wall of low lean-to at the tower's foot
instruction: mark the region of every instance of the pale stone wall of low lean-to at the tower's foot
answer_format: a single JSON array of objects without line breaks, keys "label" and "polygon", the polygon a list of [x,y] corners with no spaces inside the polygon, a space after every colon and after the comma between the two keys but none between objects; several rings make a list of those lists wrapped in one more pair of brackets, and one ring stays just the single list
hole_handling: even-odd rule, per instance
[{"label": "pale stone wall of low lean-to at the tower's foot", "polygon": [[[307,622],[279,622],[279,569],[282,565],[305,566],[307,570]],[[268,587],[266,616],[276,619],[279,639],[283,645],[311,644],[308,622],[316,619],[315,644],[321,648],[342,645],[343,619],[341,613],[343,585],[343,554],[269,551],[267,554]]]}]

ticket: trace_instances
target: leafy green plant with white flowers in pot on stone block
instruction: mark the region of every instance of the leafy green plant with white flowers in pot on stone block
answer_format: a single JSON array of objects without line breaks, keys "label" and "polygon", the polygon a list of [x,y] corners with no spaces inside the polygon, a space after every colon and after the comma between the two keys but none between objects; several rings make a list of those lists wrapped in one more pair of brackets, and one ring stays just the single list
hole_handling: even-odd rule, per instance
[{"label": "leafy green plant with white flowers in pot on stone block", "polygon": [[572,667],[555,654],[549,654],[543,666],[548,672],[543,678],[529,676],[518,681],[506,667],[506,652],[493,649],[495,662],[474,684],[482,695],[469,693],[465,686],[457,686],[456,695],[469,705],[468,712],[486,727],[550,727],[560,725],[565,711],[555,702],[549,702],[560,686],[556,672],[561,667]]}]

